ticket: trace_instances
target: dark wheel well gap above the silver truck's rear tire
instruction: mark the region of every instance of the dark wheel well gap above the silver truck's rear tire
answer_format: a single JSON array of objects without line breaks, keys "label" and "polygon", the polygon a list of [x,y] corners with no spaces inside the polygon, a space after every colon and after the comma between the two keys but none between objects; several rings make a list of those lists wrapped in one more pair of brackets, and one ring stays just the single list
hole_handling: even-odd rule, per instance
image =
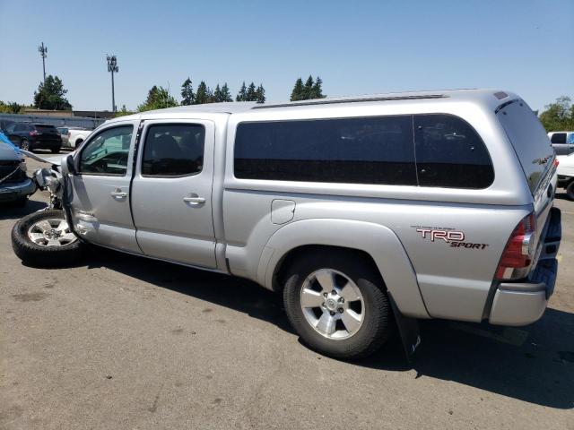
[{"label": "dark wheel well gap above the silver truck's rear tire", "polygon": [[296,258],[300,258],[301,255],[304,254],[315,254],[315,253],[325,253],[325,252],[337,252],[337,253],[344,253],[349,256],[349,258],[361,258],[363,262],[367,262],[370,266],[370,269],[378,274],[381,282],[383,282],[383,277],[381,276],[380,271],[378,271],[377,264],[373,257],[361,250],[356,248],[347,248],[345,246],[335,246],[335,245],[301,245],[297,246],[296,248],[291,249],[283,257],[277,262],[274,268],[273,274],[273,289],[274,291],[281,292],[283,290],[284,285],[284,276],[286,271],[291,267],[292,262]]}]

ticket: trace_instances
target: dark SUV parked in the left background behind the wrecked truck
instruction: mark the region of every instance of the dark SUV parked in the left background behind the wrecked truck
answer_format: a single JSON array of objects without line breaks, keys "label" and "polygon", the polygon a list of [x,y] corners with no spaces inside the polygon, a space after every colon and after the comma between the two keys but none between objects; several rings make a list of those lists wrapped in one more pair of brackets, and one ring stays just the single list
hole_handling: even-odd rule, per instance
[{"label": "dark SUV parked in the left background behind the wrecked truck", "polygon": [[62,138],[54,125],[14,123],[8,125],[6,135],[22,150],[51,150],[55,154],[62,147]]}]

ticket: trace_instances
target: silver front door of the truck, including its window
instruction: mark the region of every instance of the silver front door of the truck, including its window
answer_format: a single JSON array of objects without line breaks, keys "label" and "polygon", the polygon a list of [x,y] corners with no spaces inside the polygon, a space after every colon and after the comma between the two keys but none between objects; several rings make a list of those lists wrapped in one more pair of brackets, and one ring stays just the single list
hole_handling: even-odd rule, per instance
[{"label": "silver front door of the truck, including its window", "polygon": [[129,206],[139,121],[113,123],[92,133],[74,156],[72,217],[89,242],[141,254]]}]

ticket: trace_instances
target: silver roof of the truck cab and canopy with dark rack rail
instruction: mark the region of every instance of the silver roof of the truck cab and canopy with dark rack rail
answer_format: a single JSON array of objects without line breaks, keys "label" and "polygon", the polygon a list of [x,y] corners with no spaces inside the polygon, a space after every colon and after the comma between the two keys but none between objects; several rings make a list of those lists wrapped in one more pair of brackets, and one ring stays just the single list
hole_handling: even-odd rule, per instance
[{"label": "silver roof of the truck cab and canopy with dark rack rail", "polygon": [[438,102],[441,100],[448,99],[449,101],[468,101],[480,104],[486,104],[494,110],[501,104],[516,99],[516,95],[503,90],[478,90],[478,89],[468,89],[468,90],[434,90],[434,91],[408,91],[408,92],[388,92],[383,94],[368,94],[361,96],[350,96],[350,97],[332,97],[326,99],[311,99],[311,100],[301,100],[301,101],[286,101],[279,103],[256,103],[253,101],[244,102],[224,102],[224,103],[208,103],[204,105],[192,105],[192,106],[178,106],[178,107],[168,107],[165,109],[150,110],[132,116],[120,116],[119,118],[114,118],[110,121],[122,120],[122,119],[146,119],[152,118],[157,114],[165,117],[165,114],[195,114],[195,113],[205,113],[205,114],[248,114],[251,112],[261,112],[265,109],[277,109],[277,110],[304,110],[309,107],[317,108],[321,106],[330,105],[356,105],[358,103],[393,103],[393,102],[424,102],[428,100],[429,102]]}]

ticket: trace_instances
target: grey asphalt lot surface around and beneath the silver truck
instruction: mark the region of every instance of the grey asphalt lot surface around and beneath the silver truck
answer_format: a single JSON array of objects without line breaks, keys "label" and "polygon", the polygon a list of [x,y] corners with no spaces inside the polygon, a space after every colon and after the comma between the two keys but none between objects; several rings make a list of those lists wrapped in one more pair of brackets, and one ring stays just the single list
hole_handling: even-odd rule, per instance
[{"label": "grey asphalt lot surface around and beneath the silver truck", "polygon": [[47,196],[0,207],[0,428],[574,429],[574,202],[557,197],[544,317],[424,322],[413,365],[396,339],[352,364],[318,356],[246,280],[103,249],[26,267],[10,229]]}]

